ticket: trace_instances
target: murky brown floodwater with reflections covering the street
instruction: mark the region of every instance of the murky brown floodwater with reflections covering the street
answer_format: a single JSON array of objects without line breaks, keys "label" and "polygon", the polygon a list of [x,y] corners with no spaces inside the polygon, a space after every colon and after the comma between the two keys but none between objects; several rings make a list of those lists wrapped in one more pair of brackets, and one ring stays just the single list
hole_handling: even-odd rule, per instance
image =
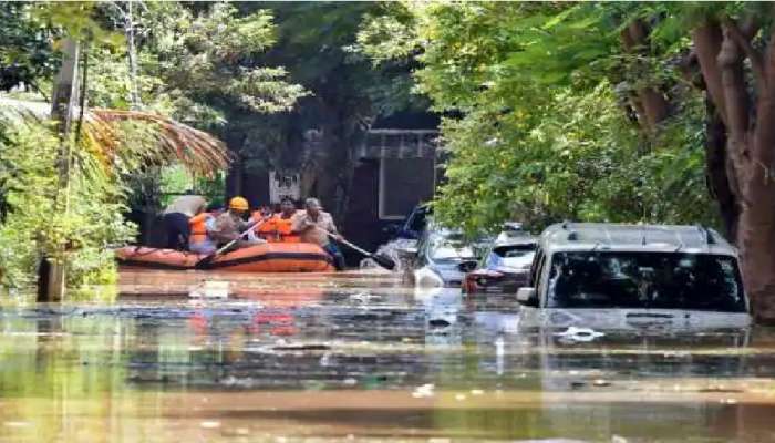
[{"label": "murky brown floodwater with reflections covering the street", "polygon": [[0,309],[0,441],[775,441],[773,330],[568,340],[373,272],[121,289]]}]

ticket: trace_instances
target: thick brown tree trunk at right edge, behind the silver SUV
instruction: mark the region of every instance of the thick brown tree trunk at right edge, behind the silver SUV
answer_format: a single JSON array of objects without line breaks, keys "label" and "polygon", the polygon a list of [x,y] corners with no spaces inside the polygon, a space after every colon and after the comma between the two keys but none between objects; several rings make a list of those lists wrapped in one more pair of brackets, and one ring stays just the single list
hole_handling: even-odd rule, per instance
[{"label": "thick brown tree trunk at right edge, behind the silver SUV", "polygon": [[[766,45],[766,59],[751,44],[754,34],[725,19],[704,23],[692,37],[707,96],[723,121],[707,128],[713,144],[709,175],[721,177],[719,158],[723,157],[728,194],[716,189],[716,198],[722,207],[736,203],[727,228],[741,251],[753,313],[757,322],[775,324],[775,33]],[[755,79],[753,84],[746,70]],[[753,96],[751,90],[755,90]],[[723,155],[716,152],[722,141]]]}]

